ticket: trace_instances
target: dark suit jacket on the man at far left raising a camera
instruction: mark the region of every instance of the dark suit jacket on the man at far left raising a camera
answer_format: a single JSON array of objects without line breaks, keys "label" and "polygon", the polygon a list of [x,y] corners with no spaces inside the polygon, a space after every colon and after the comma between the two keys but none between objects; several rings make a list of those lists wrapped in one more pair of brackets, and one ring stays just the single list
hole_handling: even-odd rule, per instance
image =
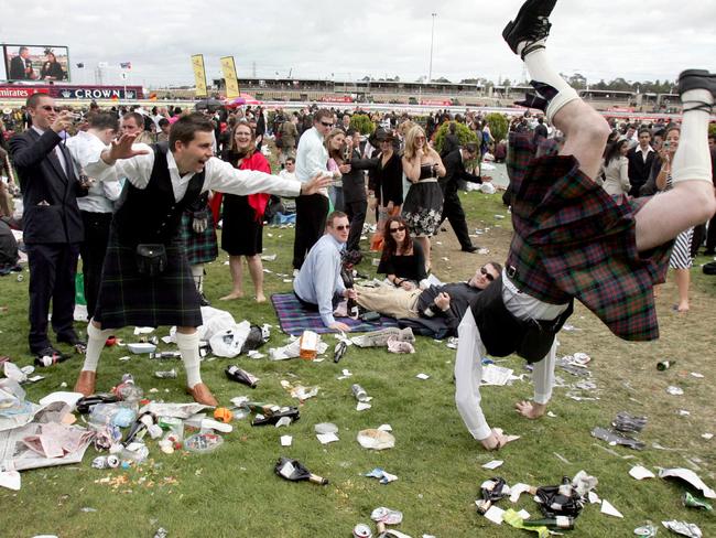
[{"label": "dark suit jacket on the man at far left raising a camera", "polygon": [[[10,152],[18,170],[23,202],[23,239],[26,244],[80,243],[83,220],[77,196],[86,194],[79,186],[72,155],[52,129],[42,137],[28,129],[10,139]],[[59,148],[67,173],[54,153]]]}]

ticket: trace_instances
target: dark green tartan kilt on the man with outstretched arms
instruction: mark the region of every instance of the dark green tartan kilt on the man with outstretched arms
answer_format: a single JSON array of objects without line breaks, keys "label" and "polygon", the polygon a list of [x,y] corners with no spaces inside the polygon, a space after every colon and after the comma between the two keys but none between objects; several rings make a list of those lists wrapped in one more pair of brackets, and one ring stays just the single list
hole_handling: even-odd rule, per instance
[{"label": "dark green tartan kilt on the man with outstretched arms", "polygon": [[112,233],[94,318],[102,329],[199,326],[199,295],[182,241],[166,245],[167,267],[154,278],[139,273],[135,256],[135,247],[121,245]]}]

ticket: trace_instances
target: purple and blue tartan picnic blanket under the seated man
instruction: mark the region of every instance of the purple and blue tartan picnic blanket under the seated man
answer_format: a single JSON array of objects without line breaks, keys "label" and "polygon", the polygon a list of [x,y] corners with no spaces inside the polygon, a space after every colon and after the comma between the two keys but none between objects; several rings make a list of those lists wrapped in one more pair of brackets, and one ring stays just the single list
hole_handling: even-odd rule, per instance
[{"label": "purple and blue tartan picnic blanket under the seated man", "polygon": [[[281,331],[286,334],[300,335],[306,330],[314,331],[318,334],[337,332],[324,326],[318,312],[306,310],[299,302],[299,299],[294,293],[274,293],[271,295],[271,302],[279,315]],[[361,320],[352,320],[350,318],[338,318],[337,321],[348,325],[352,333],[368,333],[386,327],[398,326],[398,323],[393,318],[384,316],[381,316],[380,320],[375,322],[365,322]]]}]

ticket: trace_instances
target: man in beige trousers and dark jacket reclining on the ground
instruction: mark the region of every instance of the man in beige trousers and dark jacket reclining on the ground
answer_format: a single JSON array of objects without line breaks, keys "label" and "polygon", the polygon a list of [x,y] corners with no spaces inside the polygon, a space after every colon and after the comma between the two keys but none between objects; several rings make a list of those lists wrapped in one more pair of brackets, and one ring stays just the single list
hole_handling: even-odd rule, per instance
[{"label": "man in beige trousers and dark jacket reclining on the ground", "polygon": [[501,265],[488,261],[478,267],[466,282],[431,286],[426,290],[406,291],[386,283],[377,288],[357,286],[356,302],[365,310],[399,320],[420,319],[426,323],[430,321],[431,323],[425,325],[426,329],[441,334],[441,337],[452,336],[457,334],[457,326],[470,303],[499,278],[501,271]]}]

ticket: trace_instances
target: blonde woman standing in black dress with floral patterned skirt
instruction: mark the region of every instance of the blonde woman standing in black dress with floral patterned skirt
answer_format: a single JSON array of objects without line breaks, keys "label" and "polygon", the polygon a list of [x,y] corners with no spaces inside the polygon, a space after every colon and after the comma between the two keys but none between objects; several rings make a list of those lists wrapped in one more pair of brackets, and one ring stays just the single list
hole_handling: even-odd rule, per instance
[{"label": "blonde woman standing in black dress with floral patterned skirt", "polygon": [[427,144],[425,131],[415,126],[405,136],[403,172],[410,190],[403,203],[403,218],[415,241],[423,247],[425,269],[430,269],[430,238],[440,226],[443,212],[443,192],[437,177],[445,176],[445,166],[437,152]]}]

